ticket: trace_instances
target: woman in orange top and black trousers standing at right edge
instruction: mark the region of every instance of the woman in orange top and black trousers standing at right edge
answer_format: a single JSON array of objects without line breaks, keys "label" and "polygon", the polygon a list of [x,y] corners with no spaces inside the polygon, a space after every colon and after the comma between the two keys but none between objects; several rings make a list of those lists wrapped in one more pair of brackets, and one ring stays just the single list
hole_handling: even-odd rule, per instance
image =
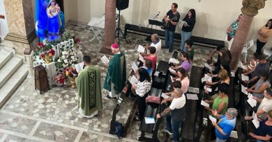
[{"label": "woman in orange top and black trousers standing at right edge", "polygon": [[272,19],[267,21],[266,25],[258,30],[259,38],[257,39],[256,53],[262,53],[262,48],[268,42],[269,37],[272,35]]}]

